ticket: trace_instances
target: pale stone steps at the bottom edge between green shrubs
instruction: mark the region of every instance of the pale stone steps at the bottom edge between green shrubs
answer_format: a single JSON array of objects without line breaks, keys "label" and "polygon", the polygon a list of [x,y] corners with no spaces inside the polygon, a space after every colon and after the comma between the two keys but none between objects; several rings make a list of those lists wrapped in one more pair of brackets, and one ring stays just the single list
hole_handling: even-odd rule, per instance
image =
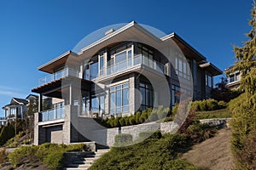
[{"label": "pale stone steps at the bottom edge between green shrubs", "polygon": [[94,161],[100,158],[103,154],[107,153],[109,149],[100,149],[96,152],[92,152],[90,155],[81,157],[79,160],[73,161],[64,167],[63,170],[86,170]]}]

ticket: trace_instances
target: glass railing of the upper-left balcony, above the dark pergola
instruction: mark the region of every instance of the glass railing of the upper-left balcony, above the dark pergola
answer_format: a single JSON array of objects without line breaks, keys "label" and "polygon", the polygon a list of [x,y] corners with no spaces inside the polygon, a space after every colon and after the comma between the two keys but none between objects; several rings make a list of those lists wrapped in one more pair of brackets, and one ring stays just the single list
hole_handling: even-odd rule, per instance
[{"label": "glass railing of the upper-left balcony, above the dark pergola", "polygon": [[48,82],[53,82],[55,80],[58,80],[67,76],[79,77],[79,71],[73,70],[71,68],[63,69],[62,71],[55,72],[54,74],[51,74],[47,77],[39,79],[39,86],[42,86]]}]

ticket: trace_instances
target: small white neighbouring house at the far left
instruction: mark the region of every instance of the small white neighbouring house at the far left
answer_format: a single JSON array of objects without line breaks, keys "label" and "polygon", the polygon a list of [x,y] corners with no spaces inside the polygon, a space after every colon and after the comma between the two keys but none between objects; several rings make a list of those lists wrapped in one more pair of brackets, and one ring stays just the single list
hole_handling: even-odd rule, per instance
[{"label": "small white neighbouring house at the far left", "polygon": [[26,99],[13,98],[9,105],[4,105],[4,115],[7,120],[13,120],[15,118],[24,118],[28,101]]}]

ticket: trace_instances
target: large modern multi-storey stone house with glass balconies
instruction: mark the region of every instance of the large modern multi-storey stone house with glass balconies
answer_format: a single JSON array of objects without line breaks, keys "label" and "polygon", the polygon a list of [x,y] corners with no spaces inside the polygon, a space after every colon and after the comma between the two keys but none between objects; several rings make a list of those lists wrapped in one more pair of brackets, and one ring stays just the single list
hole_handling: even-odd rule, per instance
[{"label": "large modern multi-storey stone house with glass balconies", "polygon": [[[142,42],[114,42],[122,37],[133,39],[133,36],[155,42],[173,40],[182,49],[186,60],[173,57],[176,64],[172,67],[154,47]],[[189,75],[190,69],[192,75]],[[61,54],[39,66],[38,70],[50,75],[40,79],[39,86],[32,89],[39,94],[35,144],[88,141],[79,132],[89,131],[90,121],[86,117],[129,116],[137,110],[154,107],[154,102],[160,102],[166,92],[162,90],[156,94],[151,82],[143,75],[157,79],[160,87],[164,74],[172,95],[168,106],[172,107],[178,102],[176,94],[180,91],[193,93],[193,99],[211,98],[212,77],[222,74],[176,33],[154,37],[135,22],[117,31],[108,31],[105,37],[86,46],[79,54],[72,51]],[[194,78],[194,91],[180,89],[178,78],[191,80],[191,77]],[[54,105],[48,111],[43,110],[45,96],[53,98]],[[142,104],[137,105],[140,99]]]}]

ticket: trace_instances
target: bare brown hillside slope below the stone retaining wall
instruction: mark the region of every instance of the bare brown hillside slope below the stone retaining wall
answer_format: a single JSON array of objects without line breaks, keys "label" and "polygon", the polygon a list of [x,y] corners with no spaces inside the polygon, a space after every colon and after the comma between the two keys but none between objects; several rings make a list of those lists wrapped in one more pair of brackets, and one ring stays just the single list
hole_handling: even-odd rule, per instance
[{"label": "bare brown hillside slope below the stone retaining wall", "polygon": [[192,150],[183,154],[186,159],[201,169],[235,169],[230,149],[230,128],[222,129],[212,139],[196,144]]}]

